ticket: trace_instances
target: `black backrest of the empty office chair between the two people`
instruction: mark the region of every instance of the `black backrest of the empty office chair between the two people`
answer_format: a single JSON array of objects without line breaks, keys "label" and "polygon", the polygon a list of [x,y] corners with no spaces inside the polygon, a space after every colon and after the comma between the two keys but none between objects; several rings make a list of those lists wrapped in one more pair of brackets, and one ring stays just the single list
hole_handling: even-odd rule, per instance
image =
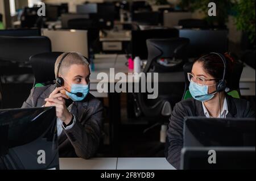
[{"label": "black backrest of the empty office chair between the two people", "polygon": [[[178,71],[182,68],[184,62],[187,61],[186,47],[188,44],[189,39],[182,37],[171,39],[148,39],[148,58],[143,72],[147,73],[149,71],[154,71],[160,73]],[[164,66],[157,62],[160,58],[168,58],[169,60],[177,61],[174,61],[173,66]]]}]

